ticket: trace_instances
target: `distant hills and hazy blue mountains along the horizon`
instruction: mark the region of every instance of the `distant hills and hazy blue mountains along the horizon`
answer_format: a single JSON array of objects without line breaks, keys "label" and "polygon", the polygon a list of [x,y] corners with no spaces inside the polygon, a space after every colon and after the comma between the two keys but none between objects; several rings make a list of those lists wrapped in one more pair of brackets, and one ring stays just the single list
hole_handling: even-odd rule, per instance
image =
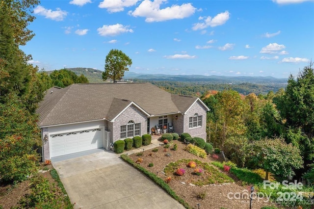
[{"label": "distant hills and hazy blue mountains along the horizon", "polygon": [[[83,74],[91,83],[103,83],[103,71],[95,70],[93,68],[67,68],[73,71],[78,76]],[[50,73],[50,72],[48,72]],[[250,76],[202,76],[202,75],[164,75],[164,74],[138,74],[126,71],[124,79],[131,80],[156,80],[156,81],[178,81],[178,82],[211,82],[211,83],[255,83],[255,84],[287,84],[287,78],[267,77],[250,77]]]}]

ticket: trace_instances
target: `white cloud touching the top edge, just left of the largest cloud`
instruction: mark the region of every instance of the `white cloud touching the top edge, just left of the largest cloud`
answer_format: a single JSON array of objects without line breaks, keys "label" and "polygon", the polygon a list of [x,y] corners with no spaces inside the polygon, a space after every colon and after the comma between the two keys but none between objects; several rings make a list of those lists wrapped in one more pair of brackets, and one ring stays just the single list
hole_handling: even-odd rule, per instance
[{"label": "white cloud touching the top edge, just left of the largest cloud", "polygon": [[124,7],[133,6],[139,0],[103,0],[99,3],[99,8],[105,8],[108,12],[121,12]]}]

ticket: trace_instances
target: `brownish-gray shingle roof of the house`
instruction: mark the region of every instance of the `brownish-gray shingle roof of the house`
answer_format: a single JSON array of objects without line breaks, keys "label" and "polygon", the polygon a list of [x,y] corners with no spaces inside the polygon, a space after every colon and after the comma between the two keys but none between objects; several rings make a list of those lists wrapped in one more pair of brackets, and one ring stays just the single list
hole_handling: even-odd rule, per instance
[{"label": "brownish-gray shingle roof of the house", "polygon": [[[52,92],[52,93],[51,93]],[[198,98],[170,94],[151,83],[72,84],[52,87],[39,104],[39,126],[112,120],[131,102],[151,116],[184,113]]]}]

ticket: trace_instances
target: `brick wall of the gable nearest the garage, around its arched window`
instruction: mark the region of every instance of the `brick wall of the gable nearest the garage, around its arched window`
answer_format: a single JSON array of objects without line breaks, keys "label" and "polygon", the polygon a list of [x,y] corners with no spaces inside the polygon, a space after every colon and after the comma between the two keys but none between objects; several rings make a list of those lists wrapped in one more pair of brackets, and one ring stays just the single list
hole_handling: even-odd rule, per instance
[{"label": "brick wall of the gable nearest the garage, around its arched window", "polygon": [[127,125],[131,120],[134,121],[134,123],[141,124],[141,136],[147,133],[147,115],[132,104],[121,115],[119,115],[113,123],[108,123],[112,124],[112,129],[109,130],[111,131],[111,142],[115,142],[120,139],[120,127]]}]

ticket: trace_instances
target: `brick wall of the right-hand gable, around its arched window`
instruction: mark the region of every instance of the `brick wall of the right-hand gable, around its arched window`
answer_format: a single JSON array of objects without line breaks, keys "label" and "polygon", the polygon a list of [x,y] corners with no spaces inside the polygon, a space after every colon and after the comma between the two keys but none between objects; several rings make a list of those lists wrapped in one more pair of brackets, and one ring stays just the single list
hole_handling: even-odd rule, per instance
[{"label": "brick wall of the right-hand gable, around its arched window", "polygon": [[[194,114],[197,113],[199,116],[202,117],[202,127],[197,128],[188,128],[188,121],[190,117],[193,117]],[[206,115],[207,109],[197,101],[195,104],[191,106],[191,108],[186,112],[184,115],[184,132],[189,133],[192,137],[200,137],[206,140]],[[179,119],[178,119],[179,120]]]}]

